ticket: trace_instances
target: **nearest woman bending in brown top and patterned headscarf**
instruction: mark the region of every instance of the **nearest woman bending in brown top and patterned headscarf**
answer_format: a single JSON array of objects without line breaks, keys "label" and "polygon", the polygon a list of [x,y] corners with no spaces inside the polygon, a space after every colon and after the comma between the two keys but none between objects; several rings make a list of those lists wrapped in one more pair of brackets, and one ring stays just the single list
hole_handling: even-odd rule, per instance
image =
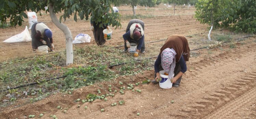
[{"label": "nearest woman bending in brown top and patterned headscarf", "polygon": [[159,70],[164,70],[165,75],[174,77],[171,79],[173,87],[179,87],[181,77],[187,71],[186,61],[189,61],[190,49],[188,40],[182,35],[171,35],[167,38],[165,44],[155,61],[155,80],[161,80]]}]

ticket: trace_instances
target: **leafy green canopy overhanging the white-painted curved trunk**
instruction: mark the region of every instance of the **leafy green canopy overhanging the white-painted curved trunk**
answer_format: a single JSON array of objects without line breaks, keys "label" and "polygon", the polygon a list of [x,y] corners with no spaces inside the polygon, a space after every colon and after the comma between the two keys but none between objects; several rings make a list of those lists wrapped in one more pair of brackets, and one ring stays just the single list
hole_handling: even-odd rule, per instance
[{"label": "leafy green canopy overhanging the white-painted curved trunk", "polygon": [[[53,4],[55,13],[63,12],[60,22],[62,18],[66,20],[71,15],[74,15],[74,21],[77,21],[77,16],[81,20],[84,18],[88,20],[89,16],[91,16],[91,19],[95,22],[109,23],[113,27],[121,26],[119,13],[114,13],[111,7],[112,4],[117,3],[117,0],[1,0],[0,21],[5,23],[10,18],[12,26],[21,26],[24,21],[23,18],[27,18],[24,11],[39,12],[40,10],[45,10],[44,6],[48,6],[49,3]],[[104,17],[105,15],[103,14],[107,14],[107,17]]]}]

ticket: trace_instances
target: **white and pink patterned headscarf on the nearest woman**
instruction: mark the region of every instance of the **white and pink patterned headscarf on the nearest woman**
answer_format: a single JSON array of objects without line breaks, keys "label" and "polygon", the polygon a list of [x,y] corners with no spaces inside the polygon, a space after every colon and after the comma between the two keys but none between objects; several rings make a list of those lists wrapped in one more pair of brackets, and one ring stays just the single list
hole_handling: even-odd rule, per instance
[{"label": "white and pink patterned headscarf on the nearest woman", "polygon": [[161,65],[166,73],[168,73],[168,78],[172,78],[175,68],[175,55],[174,49],[167,48],[161,54]]}]

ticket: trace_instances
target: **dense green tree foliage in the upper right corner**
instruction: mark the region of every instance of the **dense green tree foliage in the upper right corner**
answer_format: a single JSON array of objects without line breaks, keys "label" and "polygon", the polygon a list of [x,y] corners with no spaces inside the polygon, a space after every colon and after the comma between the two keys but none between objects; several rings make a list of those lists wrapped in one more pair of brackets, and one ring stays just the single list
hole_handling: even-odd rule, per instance
[{"label": "dense green tree foliage in the upper right corner", "polygon": [[202,24],[256,33],[255,0],[199,0],[195,18]]}]

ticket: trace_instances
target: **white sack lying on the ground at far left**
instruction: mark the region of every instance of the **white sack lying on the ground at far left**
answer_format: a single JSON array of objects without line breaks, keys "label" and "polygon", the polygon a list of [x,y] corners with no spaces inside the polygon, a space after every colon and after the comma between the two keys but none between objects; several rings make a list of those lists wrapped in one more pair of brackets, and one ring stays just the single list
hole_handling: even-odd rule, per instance
[{"label": "white sack lying on the ground at far left", "polygon": [[22,31],[20,34],[17,34],[15,36],[12,36],[11,38],[8,38],[4,40],[5,43],[14,43],[14,42],[29,42],[31,41],[31,36],[28,32],[28,28],[26,26],[25,30]]}]

